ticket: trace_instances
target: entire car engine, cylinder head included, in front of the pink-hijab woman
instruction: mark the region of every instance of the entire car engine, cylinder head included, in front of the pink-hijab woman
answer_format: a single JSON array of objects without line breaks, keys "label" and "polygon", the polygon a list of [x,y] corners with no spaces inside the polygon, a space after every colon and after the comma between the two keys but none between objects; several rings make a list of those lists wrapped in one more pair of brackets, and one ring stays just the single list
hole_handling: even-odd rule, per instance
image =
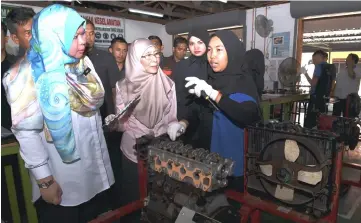
[{"label": "entire car engine, cylinder head included, in front of the pink-hijab woman", "polygon": [[237,209],[221,191],[233,172],[232,160],[181,141],[172,142],[167,136],[145,136],[138,142],[149,168],[144,219],[165,223],[182,219],[239,222]]}]

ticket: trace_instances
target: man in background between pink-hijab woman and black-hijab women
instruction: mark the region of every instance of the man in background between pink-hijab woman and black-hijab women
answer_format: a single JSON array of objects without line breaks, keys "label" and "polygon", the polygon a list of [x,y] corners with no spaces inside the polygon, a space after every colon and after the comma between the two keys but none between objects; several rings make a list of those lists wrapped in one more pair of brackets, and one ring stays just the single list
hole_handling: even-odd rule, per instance
[{"label": "man in background between pink-hijab woman and black-hijab women", "polygon": [[163,62],[163,72],[173,79],[172,71],[176,63],[183,60],[188,48],[188,41],[186,38],[178,36],[173,41],[173,55],[165,57]]}]

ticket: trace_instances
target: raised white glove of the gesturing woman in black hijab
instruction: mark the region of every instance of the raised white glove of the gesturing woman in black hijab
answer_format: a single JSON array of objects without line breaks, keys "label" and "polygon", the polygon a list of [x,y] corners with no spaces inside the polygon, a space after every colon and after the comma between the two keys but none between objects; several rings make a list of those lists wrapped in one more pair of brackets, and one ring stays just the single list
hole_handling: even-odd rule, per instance
[{"label": "raised white glove of the gesturing woman in black hijab", "polygon": [[208,97],[210,97],[213,101],[216,100],[218,96],[218,91],[214,90],[213,87],[204,80],[200,80],[197,77],[186,77],[185,79],[188,83],[185,85],[186,88],[195,85],[193,89],[189,89],[190,94],[195,94],[197,97],[201,97],[201,92],[204,91]]}]

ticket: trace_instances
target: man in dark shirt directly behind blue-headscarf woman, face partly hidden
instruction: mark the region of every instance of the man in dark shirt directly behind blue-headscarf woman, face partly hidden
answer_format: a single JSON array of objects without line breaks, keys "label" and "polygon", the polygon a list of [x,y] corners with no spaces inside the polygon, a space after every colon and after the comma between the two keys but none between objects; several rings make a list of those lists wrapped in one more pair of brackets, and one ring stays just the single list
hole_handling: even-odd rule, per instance
[{"label": "man in dark shirt directly behind blue-headscarf woman, face partly hidden", "polygon": [[[100,107],[100,113],[104,123],[104,119],[116,113],[113,98],[113,89],[119,77],[119,70],[117,63],[112,55],[106,50],[100,50],[94,47],[95,44],[95,26],[90,20],[86,20],[86,49],[87,56],[94,65],[100,80],[103,83],[105,90],[104,104]],[[115,183],[109,190],[109,199],[112,202],[113,209],[120,207],[120,191],[121,191],[121,152],[120,140],[121,133],[113,131],[112,129],[104,129],[104,137],[107,143],[110,162],[114,172]]]}]

